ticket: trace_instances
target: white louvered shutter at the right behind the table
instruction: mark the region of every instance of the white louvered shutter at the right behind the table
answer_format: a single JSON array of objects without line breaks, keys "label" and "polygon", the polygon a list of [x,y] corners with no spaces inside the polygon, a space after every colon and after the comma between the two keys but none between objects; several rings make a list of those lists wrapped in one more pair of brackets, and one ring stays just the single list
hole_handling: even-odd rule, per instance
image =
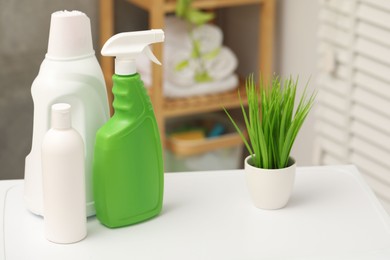
[{"label": "white louvered shutter at the right behind the table", "polygon": [[317,163],[358,166],[390,212],[390,0],[322,0]]}]

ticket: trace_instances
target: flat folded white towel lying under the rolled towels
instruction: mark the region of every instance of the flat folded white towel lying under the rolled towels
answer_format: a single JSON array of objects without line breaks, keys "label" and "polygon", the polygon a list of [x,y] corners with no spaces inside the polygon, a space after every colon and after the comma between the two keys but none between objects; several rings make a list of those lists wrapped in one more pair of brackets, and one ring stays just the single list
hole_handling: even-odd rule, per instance
[{"label": "flat folded white towel lying under the rolled towels", "polygon": [[165,81],[164,95],[171,98],[180,98],[221,93],[237,88],[238,82],[238,77],[235,74],[219,81],[196,83],[186,88],[179,87],[172,82]]}]

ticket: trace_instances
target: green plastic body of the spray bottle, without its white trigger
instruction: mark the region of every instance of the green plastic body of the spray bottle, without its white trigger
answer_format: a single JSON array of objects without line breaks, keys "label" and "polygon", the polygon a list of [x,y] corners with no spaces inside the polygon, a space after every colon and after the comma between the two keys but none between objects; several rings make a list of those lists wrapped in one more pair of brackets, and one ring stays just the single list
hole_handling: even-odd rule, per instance
[{"label": "green plastic body of the spray bottle, without its white trigger", "polygon": [[150,98],[139,74],[113,76],[114,116],[96,134],[96,216],[108,227],[135,224],[162,208],[164,166]]}]

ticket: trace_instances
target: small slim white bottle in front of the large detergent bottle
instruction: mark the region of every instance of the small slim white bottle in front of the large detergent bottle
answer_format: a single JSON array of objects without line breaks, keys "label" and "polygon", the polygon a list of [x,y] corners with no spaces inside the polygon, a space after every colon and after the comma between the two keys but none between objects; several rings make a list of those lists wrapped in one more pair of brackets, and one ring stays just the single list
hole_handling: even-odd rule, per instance
[{"label": "small slim white bottle in front of the large detergent bottle", "polygon": [[71,122],[71,106],[54,104],[42,143],[45,235],[61,244],[87,235],[84,142]]}]

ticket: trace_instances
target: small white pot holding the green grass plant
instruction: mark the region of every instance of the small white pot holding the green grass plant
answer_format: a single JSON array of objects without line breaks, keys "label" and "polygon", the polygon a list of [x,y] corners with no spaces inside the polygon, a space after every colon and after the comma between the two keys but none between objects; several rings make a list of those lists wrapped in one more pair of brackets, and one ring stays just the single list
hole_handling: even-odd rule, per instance
[{"label": "small white pot holding the green grass plant", "polygon": [[289,166],[283,169],[262,169],[245,159],[245,178],[253,203],[260,209],[280,209],[290,199],[295,179],[295,160],[290,157]]}]

